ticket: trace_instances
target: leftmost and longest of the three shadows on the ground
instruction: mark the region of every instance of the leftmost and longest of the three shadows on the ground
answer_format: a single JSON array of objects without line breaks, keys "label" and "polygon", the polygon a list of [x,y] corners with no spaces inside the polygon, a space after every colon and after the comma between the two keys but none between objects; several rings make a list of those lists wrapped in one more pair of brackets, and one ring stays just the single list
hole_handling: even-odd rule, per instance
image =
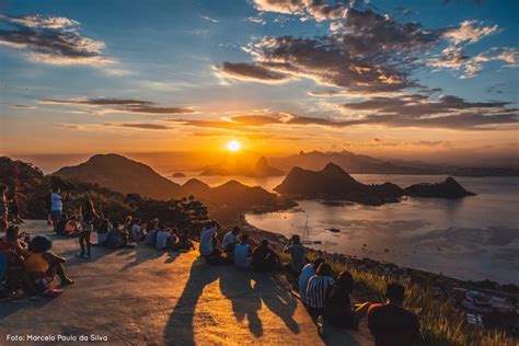
[{"label": "leftmost and longest of the three shadows on the ground", "polygon": [[164,341],[168,345],[194,345],[194,314],[204,287],[217,280],[222,273],[219,266],[211,266],[198,257],[189,270],[189,278],[173,309],[164,328]]}]

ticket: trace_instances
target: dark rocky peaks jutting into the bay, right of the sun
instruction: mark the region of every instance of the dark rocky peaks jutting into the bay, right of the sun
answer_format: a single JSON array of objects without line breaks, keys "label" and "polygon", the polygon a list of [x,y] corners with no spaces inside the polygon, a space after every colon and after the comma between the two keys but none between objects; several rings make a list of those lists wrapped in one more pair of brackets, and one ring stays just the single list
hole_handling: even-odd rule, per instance
[{"label": "dark rocky peaks jutting into the bay, right of the sun", "polygon": [[406,188],[389,182],[366,185],[334,163],[327,163],[321,171],[293,168],[275,191],[295,199],[341,199],[373,206],[399,201],[402,196],[461,198],[474,195],[453,177],[442,183],[415,184]]}]

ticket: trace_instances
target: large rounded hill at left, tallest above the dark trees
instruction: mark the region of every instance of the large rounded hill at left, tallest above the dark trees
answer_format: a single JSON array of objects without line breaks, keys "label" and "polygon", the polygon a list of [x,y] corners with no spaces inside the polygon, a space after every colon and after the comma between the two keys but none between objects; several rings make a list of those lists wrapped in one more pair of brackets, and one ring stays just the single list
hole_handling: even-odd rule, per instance
[{"label": "large rounded hill at left, tallest above the dark trees", "polygon": [[122,194],[138,193],[155,199],[170,199],[181,195],[178,184],[143,163],[115,153],[93,155],[86,162],[62,168],[53,175],[97,184]]}]

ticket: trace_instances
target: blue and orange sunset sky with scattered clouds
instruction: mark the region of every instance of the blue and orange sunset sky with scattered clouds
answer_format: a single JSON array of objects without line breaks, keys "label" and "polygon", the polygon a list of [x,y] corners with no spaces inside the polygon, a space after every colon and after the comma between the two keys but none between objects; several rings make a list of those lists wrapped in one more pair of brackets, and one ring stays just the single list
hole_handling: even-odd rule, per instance
[{"label": "blue and orange sunset sky with scattered clouds", "polygon": [[519,2],[3,1],[0,151],[517,153]]}]

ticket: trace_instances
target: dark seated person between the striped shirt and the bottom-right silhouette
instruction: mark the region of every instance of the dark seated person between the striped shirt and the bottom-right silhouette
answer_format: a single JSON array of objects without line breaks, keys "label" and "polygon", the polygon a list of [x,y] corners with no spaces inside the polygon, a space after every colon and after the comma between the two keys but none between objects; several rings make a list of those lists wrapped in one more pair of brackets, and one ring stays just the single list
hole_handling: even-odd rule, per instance
[{"label": "dark seated person between the striped shirt and the bottom-right silhouette", "polygon": [[369,303],[351,305],[350,295],[354,278],[348,272],[341,272],[337,280],[326,291],[324,314],[330,324],[341,328],[358,330],[360,320],[368,313]]}]

